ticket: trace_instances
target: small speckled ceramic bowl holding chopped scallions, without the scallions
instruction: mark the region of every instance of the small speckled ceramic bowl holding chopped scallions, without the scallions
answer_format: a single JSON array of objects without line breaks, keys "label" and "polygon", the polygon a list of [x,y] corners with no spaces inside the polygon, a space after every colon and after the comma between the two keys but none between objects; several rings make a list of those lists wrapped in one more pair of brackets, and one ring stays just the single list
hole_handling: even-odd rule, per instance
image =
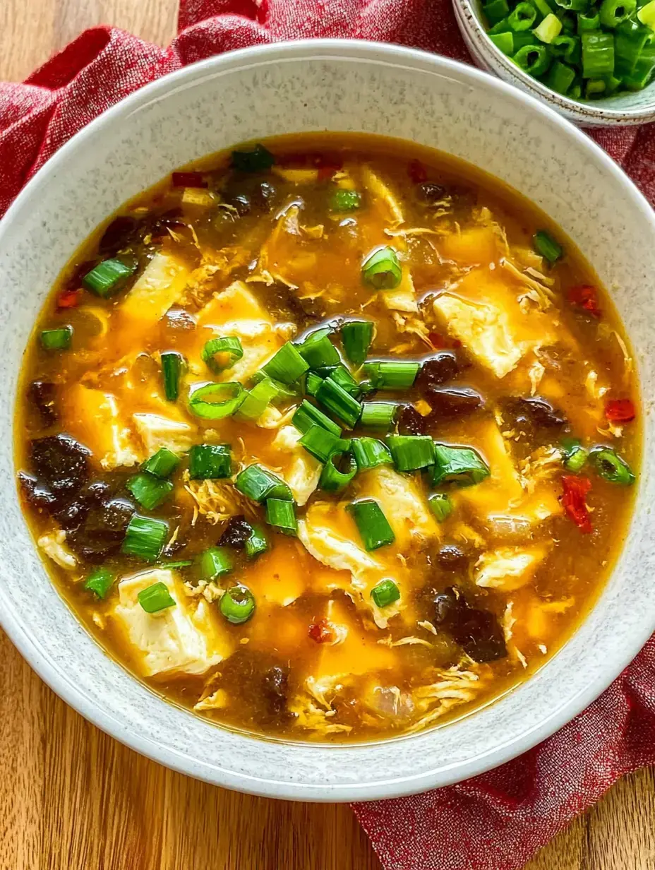
[{"label": "small speckled ceramic bowl holding chopped scallions, without the scallions", "polygon": [[563,97],[519,69],[491,42],[481,22],[480,0],[452,0],[459,30],[471,57],[483,70],[515,84],[581,127],[625,127],[655,121],[655,81],[644,90],[581,102]]}]

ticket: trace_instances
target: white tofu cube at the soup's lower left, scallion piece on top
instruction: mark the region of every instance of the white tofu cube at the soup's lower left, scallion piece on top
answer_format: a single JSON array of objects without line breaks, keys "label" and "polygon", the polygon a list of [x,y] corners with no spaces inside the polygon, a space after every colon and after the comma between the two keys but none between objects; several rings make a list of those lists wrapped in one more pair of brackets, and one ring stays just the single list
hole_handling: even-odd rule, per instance
[{"label": "white tofu cube at the soup's lower left, scallion piece on top", "polygon": [[[174,607],[144,611],[138,593],[154,583],[164,583]],[[231,654],[231,640],[220,632],[212,606],[204,598],[186,596],[174,572],[154,569],[126,577],[118,584],[118,594],[113,618],[144,676],[203,674]]]}]

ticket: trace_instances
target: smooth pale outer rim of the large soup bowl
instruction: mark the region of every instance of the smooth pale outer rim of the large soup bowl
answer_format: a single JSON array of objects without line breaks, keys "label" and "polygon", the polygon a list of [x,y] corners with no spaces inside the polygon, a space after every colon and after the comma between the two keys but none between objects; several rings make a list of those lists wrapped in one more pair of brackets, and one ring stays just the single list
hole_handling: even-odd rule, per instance
[{"label": "smooth pale outer rim of the large soup bowl", "polygon": [[[615,164],[612,158],[598,144],[587,137],[584,132],[579,131],[574,125],[559,115],[558,112],[552,110],[550,106],[539,102],[534,97],[525,94],[525,92],[518,90],[511,84],[507,84],[498,78],[490,77],[485,72],[471,67],[469,64],[463,64],[450,58],[390,43],[351,39],[304,39],[269,43],[225,52],[223,55],[211,57],[195,64],[190,64],[181,70],[176,70],[125,97],[91,121],[81,131],[78,131],[75,136],[71,137],[30,179],[14,203],[11,204],[10,209],[0,223],[0,244],[2,244],[3,238],[8,232],[8,228],[14,218],[19,216],[23,208],[32,204],[35,197],[38,197],[42,184],[46,183],[50,175],[56,173],[61,166],[64,166],[78,149],[83,148],[87,140],[95,137],[97,132],[103,131],[111,124],[116,124],[130,117],[130,114],[136,110],[157,102],[166,97],[171,91],[184,89],[184,86],[190,85],[195,80],[202,79],[208,74],[216,75],[219,71],[226,72],[233,68],[243,68],[244,64],[250,67],[253,64],[271,64],[289,59],[320,60],[322,58],[329,58],[333,61],[340,59],[345,61],[364,60],[372,64],[402,66],[410,70],[427,71],[444,76],[450,75],[460,81],[464,79],[467,84],[471,85],[484,82],[486,87],[498,90],[505,97],[509,97],[516,103],[527,104],[531,107],[531,110],[545,115],[550,123],[562,132],[563,136],[577,140],[581,147],[590,151],[604,171],[612,175],[621,185],[625,191],[625,196],[631,200],[635,211],[641,213],[645,222],[651,224],[655,231],[655,217],[653,217],[651,206],[632,181],[618,167],[618,164]],[[636,510],[633,518],[634,516],[636,516]],[[154,740],[150,740],[148,734],[136,733],[136,731],[130,730],[130,727],[113,718],[110,713],[104,711],[102,706],[89,699],[76,685],[74,680],[68,679],[57,670],[55,663],[43,655],[37,646],[37,640],[30,637],[23,629],[20,618],[13,612],[9,601],[3,601],[3,599],[3,587],[0,585],[0,602],[7,605],[0,607],[0,623],[2,623],[4,630],[14,645],[17,646],[23,658],[28,661],[30,666],[59,697],[105,733],[109,733],[110,736],[124,743],[125,746],[129,746],[136,752],[150,758],[150,760],[155,760],[179,773],[193,776],[214,785],[237,789],[245,793],[286,800],[335,802],[392,798],[424,792],[433,787],[451,785],[454,782],[469,779],[479,773],[485,773],[491,768],[499,766],[536,746],[539,742],[550,737],[552,733],[558,731],[559,728],[577,716],[578,713],[581,713],[612,684],[612,681],[618,677],[625,666],[638,654],[639,650],[651,636],[653,629],[655,629],[655,624],[652,624],[653,620],[647,621],[643,619],[639,623],[639,630],[633,632],[629,638],[625,638],[625,644],[621,647],[621,654],[615,655],[606,666],[605,671],[598,675],[598,678],[588,682],[584,688],[566,700],[558,709],[551,710],[548,713],[545,712],[544,717],[540,719],[537,726],[524,731],[518,737],[512,737],[511,740],[498,740],[498,743],[492,749],[482,755],[457,762],[451,766],[444,764],[438,769],[408,774],[394,780],[384,780],[383,777],[380,777],[378,780],[365,783],[364,785],[358,783],[339,783],[337,785],[326,784],[325,786],[317,786],[315,784],[294,781],[283,782],[273,779],[256,779],[233,769],[226,770],[224,767],[219,768],[209,764],[201,764],[196,760],[190,759],[188,756],[181,756],[181,753],[172,746],[162,746]],[[531,679],[535,679],[535,677],[536,675],[533,675]],[[404,739],[418,739],[424,736],[425,733],[430,732],[411,735]],[[251,738],[249,737],[248,739]],[[303,746],[311,747],[312,744],[304,743]],[[340,750],[350,751],[351,753],[364,753],[370,744],[314,746],[322,751],[326,748],[329,749],[331,753],[334,753],[336,758]]]}]

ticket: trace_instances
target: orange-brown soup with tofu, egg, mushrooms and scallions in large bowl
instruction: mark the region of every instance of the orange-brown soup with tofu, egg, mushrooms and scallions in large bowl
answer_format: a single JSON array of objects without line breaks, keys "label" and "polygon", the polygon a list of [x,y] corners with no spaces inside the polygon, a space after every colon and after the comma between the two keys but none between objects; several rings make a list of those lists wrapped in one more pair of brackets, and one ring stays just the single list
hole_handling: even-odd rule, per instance
[{"label": "orange-brown soup with tofu, egg, mushrooms and scallions in large bowl", "polygon": [[470,166],[297,136],[173,173],[64,271],[17,467],[105,649],[229,726],[417,731],[574,630],[638,460],[632,360],[577,251]]}]

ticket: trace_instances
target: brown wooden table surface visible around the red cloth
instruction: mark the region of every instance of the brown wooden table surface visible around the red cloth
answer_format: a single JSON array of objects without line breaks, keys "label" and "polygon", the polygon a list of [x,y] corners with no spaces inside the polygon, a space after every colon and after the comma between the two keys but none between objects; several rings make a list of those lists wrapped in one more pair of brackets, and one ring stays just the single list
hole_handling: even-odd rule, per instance
[{"label": "brown wooden table surface visible around the red cloth", "polygon": [[[293,2],[293,0],[289,0]],[[111,23],[152,42],[176,0],[4,0],[0,79]],[[348,806],[251,798],[141,758],[63,704],[0,631],[0,870],[380,870]],[[619,782],[525,870],[655,870],[655,773]]]}]

